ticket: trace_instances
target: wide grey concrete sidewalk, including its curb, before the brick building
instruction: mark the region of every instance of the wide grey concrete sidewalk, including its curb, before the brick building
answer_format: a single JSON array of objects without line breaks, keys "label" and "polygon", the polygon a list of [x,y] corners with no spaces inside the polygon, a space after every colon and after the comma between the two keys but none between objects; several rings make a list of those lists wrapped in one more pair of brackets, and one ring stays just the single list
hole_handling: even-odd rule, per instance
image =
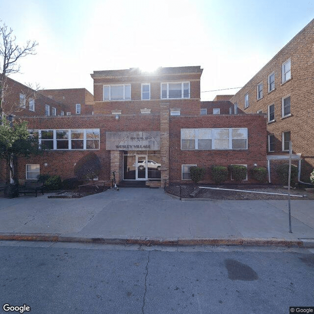
[{"label": "wide grey concrete sidewalk, including its curb, before the brick building", "polygon": [[0,239],[314,247],[314,201],[180,201],[121,188],[80,199],[0,198]]}]

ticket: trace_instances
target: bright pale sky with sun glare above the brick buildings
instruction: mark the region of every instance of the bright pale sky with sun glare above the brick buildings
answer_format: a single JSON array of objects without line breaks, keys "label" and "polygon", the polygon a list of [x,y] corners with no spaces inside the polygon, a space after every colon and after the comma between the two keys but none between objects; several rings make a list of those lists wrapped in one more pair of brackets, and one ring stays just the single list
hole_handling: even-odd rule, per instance
[{"label": "bright pale sky with sun glare above the brick buildings", "polygon": [[11,78],[93,93],[93,71],[201,66],[202,101],[235,94],[313,18],[308,0],[0,0],[16,42],[38,42]]}]

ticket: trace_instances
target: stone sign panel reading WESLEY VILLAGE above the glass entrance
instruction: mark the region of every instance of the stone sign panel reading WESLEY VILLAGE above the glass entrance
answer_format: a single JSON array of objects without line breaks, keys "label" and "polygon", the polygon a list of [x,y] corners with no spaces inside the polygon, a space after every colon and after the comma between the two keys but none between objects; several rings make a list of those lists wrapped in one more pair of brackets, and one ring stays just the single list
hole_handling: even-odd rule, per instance
[{"label": "stone sign panel reading WESLEY VILLAGE above the glass entrance", "polygon": [[160,131],[106,132],[107,151],[159,151]]}]

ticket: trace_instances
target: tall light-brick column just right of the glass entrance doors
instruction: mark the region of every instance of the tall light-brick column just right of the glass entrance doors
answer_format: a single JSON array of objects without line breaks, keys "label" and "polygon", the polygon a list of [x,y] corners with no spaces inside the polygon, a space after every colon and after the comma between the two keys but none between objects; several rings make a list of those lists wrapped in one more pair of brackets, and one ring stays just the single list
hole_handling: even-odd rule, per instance
[{"label": "tall light-brick column just right of the glass entrance doors", "polygon": [[160,104],[161,187],[169,180],[169,103]]}]

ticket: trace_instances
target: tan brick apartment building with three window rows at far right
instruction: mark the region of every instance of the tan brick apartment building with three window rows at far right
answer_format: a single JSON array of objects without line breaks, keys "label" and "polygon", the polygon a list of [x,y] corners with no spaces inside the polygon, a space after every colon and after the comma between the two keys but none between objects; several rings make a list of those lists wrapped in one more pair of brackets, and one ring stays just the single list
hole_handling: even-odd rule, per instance
[{"label": "tan brick apartment building with three window rows at far right", "polygon": [[[287,162],[289,141],[299,179],[314,168],[314,20],[305,26],[232,98],[245,113],[267,114],[267,163]],[[271,171],[276,180],[275,172]]]}]

